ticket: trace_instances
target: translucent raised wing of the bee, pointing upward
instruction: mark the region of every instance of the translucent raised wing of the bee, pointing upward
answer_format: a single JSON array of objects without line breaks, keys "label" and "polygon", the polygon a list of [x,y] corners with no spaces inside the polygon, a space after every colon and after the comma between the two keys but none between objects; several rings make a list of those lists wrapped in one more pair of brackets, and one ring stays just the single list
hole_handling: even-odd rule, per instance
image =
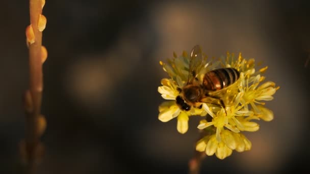
[{"label": "translucent raised wing of the bee, pointing upward", "polygon": [[199,45],[195,45],[191,52],[187,84],[193,82],[203,66],[204,59],[202,57],[201,48]]}]

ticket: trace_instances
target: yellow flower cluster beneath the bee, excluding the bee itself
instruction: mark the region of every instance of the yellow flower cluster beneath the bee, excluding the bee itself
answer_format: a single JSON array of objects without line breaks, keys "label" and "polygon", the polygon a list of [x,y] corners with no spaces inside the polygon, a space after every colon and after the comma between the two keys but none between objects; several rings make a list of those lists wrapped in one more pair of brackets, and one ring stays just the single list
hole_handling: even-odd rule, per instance
[{"label": "yellow flower cluster beneath the bee, excluding the bee itself", "polygon": [[[274,82],[264,82],[264,73],[268,67],[255,71],[254,59],[246,60],[241,53],[237,58],[227,53],[226,59],[207,62],[197,72],[198,80],[202,81],[206,72],[217,68],[235,68],[240,72],[240,78],[227,88],[215,92],[224,104],[225,109],[219,105],[201,103],[202,107],[192,107],[189,111],[182,110],[176,104],[179,89],[187,84],[189,77],[190,58],[186,52],[181,56],[173,54],[174,58],[168,59],[167,63],[160,62],[164,71],[170,78],[161,81],[158,92],[166,100],[159,106],[159,120],[168,122],[177,118],[177,131],[186,133],[188,130],[189,117],[199,115],[203,119],[198,129],[206,131],[206,136],[196,143],[196,150],[205,152],[206,155],[216,155],[224,159],[231,155],[233,150],[243,152],[251,149],[251,142],[242,134],[242,131],[257,131],[259,124],[253,120],[271,121],[273,112],[266,108],[262,101],[273,99],[273,95],[279,87]],[[210,102],[212,103],[212,102]],[[206,116],[206,118],[204,117]]]}]

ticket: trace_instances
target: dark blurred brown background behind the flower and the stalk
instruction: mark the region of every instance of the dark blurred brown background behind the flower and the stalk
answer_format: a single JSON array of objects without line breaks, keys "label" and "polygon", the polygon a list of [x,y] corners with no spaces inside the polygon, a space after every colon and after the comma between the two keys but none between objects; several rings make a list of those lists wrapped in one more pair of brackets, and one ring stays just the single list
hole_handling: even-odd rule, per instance
[{"label": "dark blurred brown background behind the flower and the stalk", "polygon": [[[21,173],[29,1],[1,1],[0,9],[0,173]],[[176,120],[161,123],[157,88],[167,77],[159,61],[195,44],[210,57],[255,57],[281,87],[267,102],[274,120],[247,133],[252,150],[207,157],[202,173],[307,169],[309,10],[307,1],[46,0],[39,173],[187,173],[198,119],[184,135]]]}]

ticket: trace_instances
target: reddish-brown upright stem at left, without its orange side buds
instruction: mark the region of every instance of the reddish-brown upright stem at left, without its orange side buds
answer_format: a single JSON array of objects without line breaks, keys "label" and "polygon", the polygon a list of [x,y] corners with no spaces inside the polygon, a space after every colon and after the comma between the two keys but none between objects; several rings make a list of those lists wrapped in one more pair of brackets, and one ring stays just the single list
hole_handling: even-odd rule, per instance
[{"label": "reddish-brown upright stem at left, without its orange side buds", "polygon": [[[29,44],[29,88],[25,94],[26,135],[25,151],[27,158],[27,173],[35,173],[36,156],[40,144],[39,117],[43,90],[42,77],[42,32],[39,31],[38,21],[42,14],[42,1],[30,0],[30,23],[34,33],[34,43]],[[30,93],[30,95],[27,93]],[[26,107],[28,106],[28,108]]]}]

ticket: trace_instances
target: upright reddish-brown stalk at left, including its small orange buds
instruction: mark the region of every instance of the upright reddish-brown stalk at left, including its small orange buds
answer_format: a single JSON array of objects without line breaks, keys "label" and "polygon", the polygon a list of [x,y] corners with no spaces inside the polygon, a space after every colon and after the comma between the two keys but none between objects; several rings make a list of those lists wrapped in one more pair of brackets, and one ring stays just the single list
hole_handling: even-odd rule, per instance
[{"label": "upright reddish-brown stalk at left, including its small orange buds", "polygon": [[27,173],[35,173],[37,159],[43,151],[40,136],[46,126],[45,118],[41,114],[42,64],[47,57],[46,48],[42,46],[42,31],[46,25],[46,18],[42,15],[44,4],[45,0],[29,1],[30,25],[26,28],[29,48],[29,90],[24,94],[26,133],[20,148],[27,164]]}]

